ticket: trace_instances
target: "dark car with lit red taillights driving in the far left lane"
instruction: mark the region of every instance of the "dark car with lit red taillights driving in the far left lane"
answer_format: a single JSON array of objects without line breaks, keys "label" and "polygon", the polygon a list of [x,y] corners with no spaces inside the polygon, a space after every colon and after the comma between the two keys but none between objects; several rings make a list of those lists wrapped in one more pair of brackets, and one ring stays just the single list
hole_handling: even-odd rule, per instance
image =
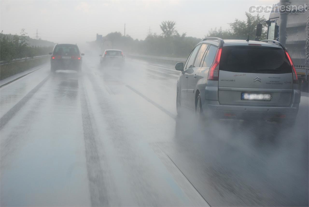
[{"label": "dark car with lit red taillights driving in the far left lane", "polygon": [[82,70],[82,56],[76,44],[56,44],[50,58],[50,71]]}]

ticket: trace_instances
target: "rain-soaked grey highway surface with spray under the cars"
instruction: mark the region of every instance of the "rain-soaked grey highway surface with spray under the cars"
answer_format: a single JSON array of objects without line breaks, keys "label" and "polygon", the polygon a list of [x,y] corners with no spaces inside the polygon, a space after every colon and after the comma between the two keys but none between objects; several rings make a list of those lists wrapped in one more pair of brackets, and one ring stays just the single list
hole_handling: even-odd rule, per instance
[{"label": "rain-soaked grey highway surface with spray under the cars", "polygon": [[0,89],[1,206],[308,206],[308,97],[292,129],[198,125],[172,65],[49,70]]}]

